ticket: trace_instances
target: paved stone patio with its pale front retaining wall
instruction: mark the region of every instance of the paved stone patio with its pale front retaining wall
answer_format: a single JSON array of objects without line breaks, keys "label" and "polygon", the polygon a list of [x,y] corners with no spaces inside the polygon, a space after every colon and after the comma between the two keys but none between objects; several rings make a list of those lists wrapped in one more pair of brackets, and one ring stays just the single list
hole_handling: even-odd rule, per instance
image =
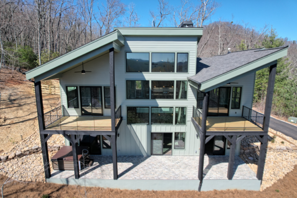
[{"label": "paved stone patio with its pale front retaining wall", "polygon": [[[141,190],[198,190],[199,156],[118,156],[118,180],[112,180],[112,156],[91,155],[91,158],[94,159],[94,164],[80,171],[79,180],[74,179],[73,170],[54,170],[47,181],[84,185],[86,179],[87,186]],[[235,157],[233,179],[228,180],[228,160],[229,156],[205,155],[202,190],[259,190],[260,181],[257,180],[256,174],[238,156]],[[127,188],[123,183],[133,185]],[[122,186],[117,187],[117,184]]]}]

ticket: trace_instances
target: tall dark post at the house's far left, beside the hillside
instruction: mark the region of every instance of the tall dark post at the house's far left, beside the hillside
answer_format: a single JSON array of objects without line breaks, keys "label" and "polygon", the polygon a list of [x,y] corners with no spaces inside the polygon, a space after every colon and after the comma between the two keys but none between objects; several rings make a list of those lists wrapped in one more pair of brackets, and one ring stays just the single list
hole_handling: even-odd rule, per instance
[{"label": "tall dark post at the house's far left, beside the hillside", "polygon": [[[42,91],[41,91],[41,82],[35,82],[35,97],[36,97],[36,107],[37,107],[37,118],[38,118],[38,125],[39,131],[45,130],[44,125],[44,111],[43,111],[43,101],[42,101]],[[44,169],[45,169],[45,176],[46,179],[50,178],[50,167],[49,167],[49,152],[48,152],[48,144],[46,141],[47,135],[40,133],[40,140],[41,140],[41,149],[42,149],[42,156],[44,161]]]}]

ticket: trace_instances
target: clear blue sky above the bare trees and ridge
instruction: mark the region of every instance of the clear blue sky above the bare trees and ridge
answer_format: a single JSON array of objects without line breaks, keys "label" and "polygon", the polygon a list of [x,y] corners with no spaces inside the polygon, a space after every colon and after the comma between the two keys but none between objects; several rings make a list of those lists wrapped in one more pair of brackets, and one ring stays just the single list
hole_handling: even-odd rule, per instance
[{"label": "clear blue sky above the bare trees and ridge", "polygon": [[[200,1],[200,0],[193,0]],[[219,18],[234,22],[249,23],[256,29],[265,23],[273,26],[280,37],[297,40],[297,0],[216,0],[221,7],[211,17],[211,21]],[[141,26],[149,26],[149,10],[154,10],[157,0],[122,0],[125,4],[134,2],[136,11],[141,16]],[[169,0],[172,5],[178,5],[180,0]]]}]

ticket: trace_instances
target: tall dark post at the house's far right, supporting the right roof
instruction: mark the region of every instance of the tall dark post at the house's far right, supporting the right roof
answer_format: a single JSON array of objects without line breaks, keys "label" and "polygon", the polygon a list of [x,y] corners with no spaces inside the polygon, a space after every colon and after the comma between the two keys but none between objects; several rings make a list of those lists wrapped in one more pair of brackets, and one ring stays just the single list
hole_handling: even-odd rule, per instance
[{"label": "tall dark post at the house's far right, supporting the right roof", "polygon": [[[269,129],[274,82],[275,82],[275,75],[276,75],[276,66],[277,66],[277,64],[271,65],[270,70],[269,70],[269,80],[268,80],[265,110],[264,110],[264,116],[265,116],[265,123],[264,123],[264,127],[263,127],[264,132],[268,132],[268,129]],[[257,168],[257,179],[258,180],[262,180],[262,178],[263,178],[265,158],[266,158],[267,135],[263,136],[262,140],[263,141],[261,141],[259,160],[258,160],[258,168]]]}]

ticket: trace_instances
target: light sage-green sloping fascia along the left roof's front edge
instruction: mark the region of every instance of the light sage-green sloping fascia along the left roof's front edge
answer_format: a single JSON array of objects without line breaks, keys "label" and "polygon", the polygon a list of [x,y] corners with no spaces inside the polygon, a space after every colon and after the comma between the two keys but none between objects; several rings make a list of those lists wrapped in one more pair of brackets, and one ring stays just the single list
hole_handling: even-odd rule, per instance
[{"label": "light sage-green sloping fascia along the left roof's front edge", "polygon": [[85,54],[90,53],[93,50],[100,48],[101,46],[105,46],[113,42],[116,43],[118,46],[123,46],[125,42],[125,38],[118,31],[110,33],[109,35],[101,37],[93,42],[90,42],[89,44],[81,46],[80,48],[74,49],[39,67],[36,67],[26,72],[26,78],[27,79],[35,78],[36,76],[42,75],[43,73],[49,70],[57,68],[63,64],[67,64],[67,62],[71,61],[74,58],[84,56]]}]

